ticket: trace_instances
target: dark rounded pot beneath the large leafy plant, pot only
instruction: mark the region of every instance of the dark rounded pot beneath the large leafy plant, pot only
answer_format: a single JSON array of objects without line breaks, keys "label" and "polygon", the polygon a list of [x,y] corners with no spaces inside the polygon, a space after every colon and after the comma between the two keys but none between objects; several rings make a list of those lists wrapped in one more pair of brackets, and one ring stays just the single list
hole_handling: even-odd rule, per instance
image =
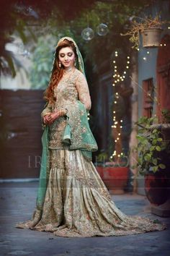
[{"label": "dark rounded pot beneath the large leafy plant, pot only", "polygon": [[146,197],[153,205],[161,205],[169,197],[168,179],[164,174],[147,174],[145,176]]}]

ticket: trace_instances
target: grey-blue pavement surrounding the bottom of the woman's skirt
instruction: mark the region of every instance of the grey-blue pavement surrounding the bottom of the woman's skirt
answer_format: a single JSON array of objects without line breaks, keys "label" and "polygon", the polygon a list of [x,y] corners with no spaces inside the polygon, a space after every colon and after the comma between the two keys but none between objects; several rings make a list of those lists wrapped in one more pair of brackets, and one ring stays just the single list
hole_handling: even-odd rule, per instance
[{"label": "grey-blue pavement surrounding the bottom of the woman's skirt", "polygon": [[147,216],[167,223],[168,229],[128,236],[68,238],[50,232],[17,229],[15,223],[30,219],[35,209],[38,182],[0,184],[0,255],[28,256],[168,256],[170,218],[151,213],[146,196],[112,195],[123,213]]}]

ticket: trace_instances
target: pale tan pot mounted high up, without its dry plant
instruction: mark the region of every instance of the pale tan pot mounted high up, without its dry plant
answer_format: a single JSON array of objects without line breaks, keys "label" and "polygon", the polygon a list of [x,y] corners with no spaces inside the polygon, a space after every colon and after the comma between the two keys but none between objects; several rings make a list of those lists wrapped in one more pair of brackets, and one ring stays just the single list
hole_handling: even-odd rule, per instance
[{"label": "pale tan pot mounted high up, without its dry plant", "polygon": [[143,47],[158,47],[161,41],[161,27],[145,28],[141,33],[143,38]]}]

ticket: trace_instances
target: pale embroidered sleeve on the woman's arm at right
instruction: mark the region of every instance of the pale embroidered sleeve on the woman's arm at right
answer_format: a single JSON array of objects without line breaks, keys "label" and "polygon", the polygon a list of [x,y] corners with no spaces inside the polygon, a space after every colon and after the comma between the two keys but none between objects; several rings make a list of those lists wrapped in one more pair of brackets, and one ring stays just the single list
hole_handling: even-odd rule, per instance
[{"label": "pale embroidered sleeve on the woman's arm at right", "polygon": [[76,89],[79,94],[79,101],[84,103],[86,110],[89,111],[91,109],[91,97],[89,94],[89,86],[86,82],[86,77],[84,74],[79,74],[79,77],[76,80]]}]

